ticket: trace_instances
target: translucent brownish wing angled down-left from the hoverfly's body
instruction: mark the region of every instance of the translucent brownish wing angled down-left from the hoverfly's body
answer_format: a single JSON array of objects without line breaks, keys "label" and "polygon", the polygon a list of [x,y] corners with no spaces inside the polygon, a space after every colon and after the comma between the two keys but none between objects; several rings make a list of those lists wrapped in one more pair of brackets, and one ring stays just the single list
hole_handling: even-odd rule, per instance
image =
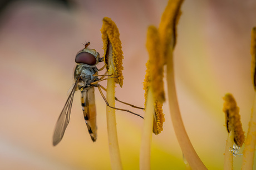
[{"label": "translucent brownish wing angled down-left from the hoverfly's body", "polygon": [[79,77],[77,78],[76,83],[73,86],[73,89],[67,98],[66,104],[63,107],[63,110],[61,111],[60,117],[58,117],[58,120],[55,126],[55,131],[53,133],[53,146],[56,146],[62,140],[64,132],[67,128],[68,122],[70,122],[71,107],[73,103],[73,97],[76,92],[78,80],[80,80]]}]

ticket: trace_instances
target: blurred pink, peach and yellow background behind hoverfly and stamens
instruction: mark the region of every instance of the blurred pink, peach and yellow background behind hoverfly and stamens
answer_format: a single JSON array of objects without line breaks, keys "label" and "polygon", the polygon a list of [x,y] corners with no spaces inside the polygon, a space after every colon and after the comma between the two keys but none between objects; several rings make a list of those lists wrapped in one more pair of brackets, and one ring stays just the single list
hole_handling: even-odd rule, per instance
[{"label": "blurred pink, peach and yellow background behind hoverfly and stamens", "polygon": [[[88,135],[77,92],[65,136],[52,146],[55,123],[73,84],[75,54],[83,48],[82,43],[90,41],[90,48],[102,56],[102,18],[114,20],[124,51],[125,78],[124,86],[117,86],[116,96],[144,106],[146,31],[151,24],[159,25],[167,3],[0,3],[0,169],[111,169],[106,105],[98,91],[97,142]],[[253,105],[250,32],[256,25],[256,2],[187,0],[181,9],[174,51],[181,114],[205,166],[223,169],[228,133],[221,97],[227,92],[234,95],[246,133]],[[131,110],[144,115],[141,110]],[[152,137],[151,168],[185,169],[168,101],[164,113],[164,131]],[[139,169],[143,120],[120,111],[116,111],[116,119],[124,169]],[[242,151],[243,147],[239,153]],[[234,157],[234,169],[240,169],[241,162],[242,156]]]}]

